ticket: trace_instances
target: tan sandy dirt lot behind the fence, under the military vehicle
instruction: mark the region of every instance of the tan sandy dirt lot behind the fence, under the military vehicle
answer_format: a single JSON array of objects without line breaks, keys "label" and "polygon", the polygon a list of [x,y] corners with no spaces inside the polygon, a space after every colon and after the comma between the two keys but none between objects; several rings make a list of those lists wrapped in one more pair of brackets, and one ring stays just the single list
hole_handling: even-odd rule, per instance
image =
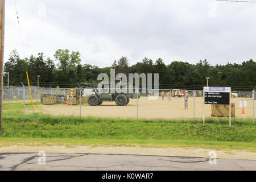
[{"label": "tan sandy dirt lot behind the fence, under the military vehicle", "polygon": [[[247,100],[245,114],[241,114],[242,108],[239,102]],[[232,103],[236,104],[236,118],[252,118],[253,117],[253,100],[251,98],[232,98]],[[167,97],[158,98],[157,100],[148,100],[147,97],[139,98],[139,118],[144,119],[182,119],[193,118],[193,97],[189,98],[189,109],[184,110],[183,98],[172,98],[171,101]],[[79,106],[61,105],[36,105],[36,110],[42,111],[43,114],[51,115],[75,115],[79,116]],[[29,110],[27,111],[30,112]],[[115,102],[104,102],[101,106],[82,105],[82,116],[108,117],[108,118],[137,118],[137,100],[130,100],[127,106],[117,106]],[[203,98],[195,98],[195,117],[203,118]],[[205,105],[205,117],[211,117],[211,105]]]}]

